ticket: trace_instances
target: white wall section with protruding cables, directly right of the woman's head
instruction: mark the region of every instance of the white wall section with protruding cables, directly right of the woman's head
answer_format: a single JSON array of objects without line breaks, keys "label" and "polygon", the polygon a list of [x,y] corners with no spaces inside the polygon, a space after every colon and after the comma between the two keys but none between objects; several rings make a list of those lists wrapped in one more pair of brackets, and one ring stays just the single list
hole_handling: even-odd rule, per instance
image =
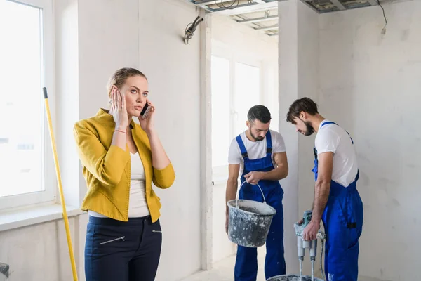
[{"label": "white wall section with protruding cables, directly right of the woman's head", "polygon": [[200,28],[189,45],[182,40],[197,15],[181,1],[140,1],[140,70],[149,79],[156,127],[176,174],[170,189],[155,189],[163,205],[156,280],[178,280],[201,265]]}]

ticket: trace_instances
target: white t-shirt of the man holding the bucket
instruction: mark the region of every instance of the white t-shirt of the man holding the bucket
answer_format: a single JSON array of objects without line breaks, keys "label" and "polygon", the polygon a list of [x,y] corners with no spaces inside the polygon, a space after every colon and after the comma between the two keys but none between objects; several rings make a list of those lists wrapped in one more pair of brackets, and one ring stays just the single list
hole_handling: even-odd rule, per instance
[{"label": "white t-shirt of the man holding the bucket", "polygon": [[[250,141],[246,137],[246,132],[241,133],[241,140],[243,140],[244,146],[246,147],[248,159],[260,159],[266,156],[266,136],[262,141]],[[270,136],[272,137],[272,162],[274,162],[274,153],[286,152],[285,142],[280,133],[277,131],[270,130]],[[241,155],[241,150],[239,143],[237,143],[236,138],[234,138],[229,146],[228,152],[228,163],[229,164],[241,164],[242,174],[244,167],[243,155]]]}]

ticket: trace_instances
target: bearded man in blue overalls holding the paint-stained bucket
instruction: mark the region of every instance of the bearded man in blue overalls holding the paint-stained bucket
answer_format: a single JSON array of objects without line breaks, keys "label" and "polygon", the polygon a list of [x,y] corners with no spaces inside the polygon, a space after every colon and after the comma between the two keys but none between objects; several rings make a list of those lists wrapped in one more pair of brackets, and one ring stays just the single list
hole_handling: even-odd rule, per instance
[{"label": "bearded man in blue overalls holding the paint-stained bucket", "polygon": [[[262,188],[267,204],[276,209],[266,240],[266,279],[286,272],[283,254],[283,190],[279,180],[288,175],[286,148],[280,133],[269,130],[270,112],[263,105],[248,111],[247,131],[234,138],[229,147],[229,177],[226,202],[236,198],[240,168],[239,199],[263,202]],[[246,181],[246,183],[244,183]],[[243,184],[244,183],[244,184]],[[225,228],[228,230],[228,207]],[[258,274],[257,249],[238,246],[234,269],[235,281],[255,281]]]}]

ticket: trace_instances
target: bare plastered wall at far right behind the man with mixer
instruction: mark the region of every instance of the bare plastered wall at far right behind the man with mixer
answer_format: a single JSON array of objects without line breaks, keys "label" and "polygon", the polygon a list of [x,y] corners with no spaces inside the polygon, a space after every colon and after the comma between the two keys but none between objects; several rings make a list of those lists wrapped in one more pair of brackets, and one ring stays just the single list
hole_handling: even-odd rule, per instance
[{"label": "bare plastered wall at far right behind the man with mixer", "polygon": [[[352,134],[364,203],[360,274],[418,280],[421,1],[319,17],[322,115]],[[361,279],[362,280],[362,279]]]}]

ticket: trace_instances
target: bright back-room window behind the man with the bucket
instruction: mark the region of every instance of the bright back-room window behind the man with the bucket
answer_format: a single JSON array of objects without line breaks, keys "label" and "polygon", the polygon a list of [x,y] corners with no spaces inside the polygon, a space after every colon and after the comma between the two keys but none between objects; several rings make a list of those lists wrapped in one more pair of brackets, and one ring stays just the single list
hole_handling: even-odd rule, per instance
[{"label": "bright back-room window behind the man with the bucket", "polygon": [[225,181],[229,145],[246,129],[250,107],[260,103],[260,68],[213,55],[211,84],[213,180]]}]

